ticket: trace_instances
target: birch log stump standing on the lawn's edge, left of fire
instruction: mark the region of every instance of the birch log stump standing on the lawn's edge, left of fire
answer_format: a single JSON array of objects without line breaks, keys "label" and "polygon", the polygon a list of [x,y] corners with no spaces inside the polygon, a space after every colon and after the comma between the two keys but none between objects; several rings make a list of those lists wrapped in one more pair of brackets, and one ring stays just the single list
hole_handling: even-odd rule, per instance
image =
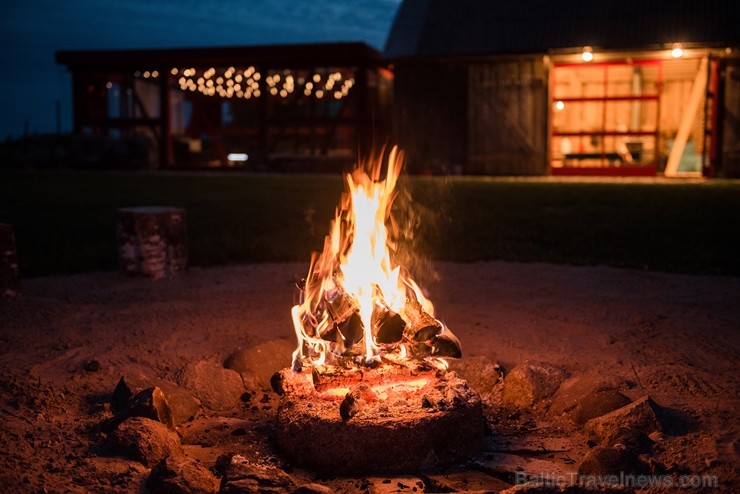
[{"label": "birch log stump standing on the lawn's edge, left of fire", "polygon": [[121,208],[116,225],[122,273],[169,278],[187,270],[184,209],[160,206]]}]

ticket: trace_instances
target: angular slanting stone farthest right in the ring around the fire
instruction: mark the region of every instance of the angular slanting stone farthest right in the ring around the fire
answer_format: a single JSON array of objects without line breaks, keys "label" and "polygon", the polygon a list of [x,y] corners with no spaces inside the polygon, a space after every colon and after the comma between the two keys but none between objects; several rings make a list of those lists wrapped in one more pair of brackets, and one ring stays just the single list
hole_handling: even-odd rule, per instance
[{"label": "angular slanting stone farthest right in the ring around the fire", "polygon": [[620,427],[647,435],[662,430],[656,410],[658,405],[649,396],[644,396],[627,406],[589,420],[584,425],[584,430],[600,443]]}]

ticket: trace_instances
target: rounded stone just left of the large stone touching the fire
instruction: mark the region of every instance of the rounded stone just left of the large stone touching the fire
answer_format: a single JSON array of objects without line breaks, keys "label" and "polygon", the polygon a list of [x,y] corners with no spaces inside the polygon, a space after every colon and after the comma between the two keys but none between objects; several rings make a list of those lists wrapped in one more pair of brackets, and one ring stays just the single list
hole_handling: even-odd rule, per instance
[{"label": "rounded stone just left of the large stone touching the fire", "polygon": [[207,360],[186,365],[177,374],[176,381],[192,392],[204,407],[214,411],[236,407],[245,391],[238,372]]}]

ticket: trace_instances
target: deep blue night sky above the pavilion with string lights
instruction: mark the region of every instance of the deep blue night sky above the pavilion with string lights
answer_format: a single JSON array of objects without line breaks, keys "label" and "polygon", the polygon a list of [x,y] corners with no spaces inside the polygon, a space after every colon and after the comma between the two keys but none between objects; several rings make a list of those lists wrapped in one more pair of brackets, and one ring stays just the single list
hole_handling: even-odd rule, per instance
[{"label": "deep blue night sky above the pavilion with string lights", "polygon": [[401,0],[5,0],[0,139],[56,130],[72,116],[56,50],[364,41],[383,48]]}]

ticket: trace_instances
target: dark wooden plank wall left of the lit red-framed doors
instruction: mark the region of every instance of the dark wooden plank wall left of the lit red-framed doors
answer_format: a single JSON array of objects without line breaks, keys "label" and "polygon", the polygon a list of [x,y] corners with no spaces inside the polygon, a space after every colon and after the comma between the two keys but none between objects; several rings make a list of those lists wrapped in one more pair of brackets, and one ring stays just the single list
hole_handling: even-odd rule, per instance
[{"label": "dark wooden plank wall left of the lit red-framed doors", "polygon": [[394,89],[412,172],[547,174],[542,57],[397,63]]}]

